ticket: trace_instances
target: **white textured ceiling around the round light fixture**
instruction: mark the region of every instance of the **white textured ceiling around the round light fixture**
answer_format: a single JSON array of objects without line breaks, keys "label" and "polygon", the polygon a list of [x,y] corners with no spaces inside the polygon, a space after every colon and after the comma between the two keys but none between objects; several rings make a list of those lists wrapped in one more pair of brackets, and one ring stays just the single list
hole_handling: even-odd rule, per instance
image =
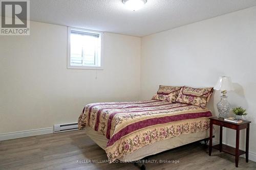
[{"label": "white textured ceiling around the round light fixture", "polygon": [[255,0],[147,0],[138,11],[121,0],[32,0],[34,21],[145,36],[256,6]]}]

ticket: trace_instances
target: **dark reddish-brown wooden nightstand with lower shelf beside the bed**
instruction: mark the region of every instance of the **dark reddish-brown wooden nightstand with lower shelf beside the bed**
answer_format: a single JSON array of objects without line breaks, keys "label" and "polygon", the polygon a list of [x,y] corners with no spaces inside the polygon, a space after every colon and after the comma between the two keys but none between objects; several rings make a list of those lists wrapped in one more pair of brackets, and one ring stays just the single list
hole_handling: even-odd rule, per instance
[{"label": "dark reddish-brown wooden nightstand with lower shelf beside the bed", "polygon": [[[210,142],[209,142],[209,156],[211,155],[212,148],[219,150],[220,152],[226,152],[228,154],[234,155],[236,157],[236,167],[238,167],[238,160],[239,156],[245,154],[246,162],[248,162],[249,156],[249,129],[250,123],[247,120],[243,120],[243,123],[236,124],[224,121],[223,118],[218,117],[210,117]],[[220,143],[212,146],[212,125],[219,125],[220,126]],[[236,148],[229,147],[226,144],[222,144],[222,127],[234,129],[237,131],[236,137]],[[240,130],[246,129],[246,147],[245,151],[239,149],[239,138],[240,138]]]}]

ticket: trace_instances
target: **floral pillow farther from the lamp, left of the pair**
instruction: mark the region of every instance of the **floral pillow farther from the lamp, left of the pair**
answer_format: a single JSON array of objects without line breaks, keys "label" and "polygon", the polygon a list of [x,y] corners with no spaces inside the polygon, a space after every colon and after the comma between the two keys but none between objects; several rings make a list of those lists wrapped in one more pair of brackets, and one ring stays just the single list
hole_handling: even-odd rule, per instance
[{"label": "floral pillow farther from the lamp, left of the pair", "polygon": [[180,89],[181,87],[179,86],[159,86],[152,99],[175,103]]}]

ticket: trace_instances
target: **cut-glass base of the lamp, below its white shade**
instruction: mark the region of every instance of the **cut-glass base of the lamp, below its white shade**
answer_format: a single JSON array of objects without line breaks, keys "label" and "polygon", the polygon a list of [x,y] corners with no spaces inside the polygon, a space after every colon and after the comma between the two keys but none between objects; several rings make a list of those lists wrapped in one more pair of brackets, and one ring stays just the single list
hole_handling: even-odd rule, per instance
[{"label": "cut-glass base of the lamp, below its white shade", "polygon": [[219,116],[218,117],[227,118],[228,114],[229,114],[230,107],[231,107],[231,105],[227,101],[227,96],[222,95],[221,96],[221,101],[217,104],[217,108],[218,108],[218,111],[219,111]]}]

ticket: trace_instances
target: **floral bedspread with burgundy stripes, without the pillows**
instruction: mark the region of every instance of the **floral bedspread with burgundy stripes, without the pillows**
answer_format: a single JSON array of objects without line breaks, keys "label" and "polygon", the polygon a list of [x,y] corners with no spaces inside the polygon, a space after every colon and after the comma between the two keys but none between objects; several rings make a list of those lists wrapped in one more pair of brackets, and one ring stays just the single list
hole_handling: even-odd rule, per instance
[{"label": "floral bedspread with burgundy stripes, without the pillows", "polygon": [[110,162],[153,142],[209,128],[207,108],[165,101],[92,103],[78,118],[79,129],[90,126],[109,139]]}]

